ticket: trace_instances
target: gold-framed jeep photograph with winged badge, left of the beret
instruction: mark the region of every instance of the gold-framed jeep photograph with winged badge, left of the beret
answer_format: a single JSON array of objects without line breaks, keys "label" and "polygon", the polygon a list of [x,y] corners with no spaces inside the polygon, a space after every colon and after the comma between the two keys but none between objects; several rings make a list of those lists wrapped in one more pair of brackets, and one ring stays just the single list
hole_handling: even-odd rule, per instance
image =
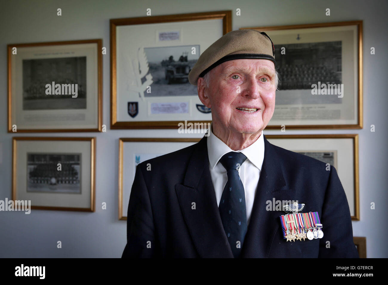
[{"label": "gold-framed jeep photograph with winged badge, left of the beret", "polygon": [[231,11],[111,19],[110,25],[111,128],[211,122],[188,74],[201,52],[232,30]]}]

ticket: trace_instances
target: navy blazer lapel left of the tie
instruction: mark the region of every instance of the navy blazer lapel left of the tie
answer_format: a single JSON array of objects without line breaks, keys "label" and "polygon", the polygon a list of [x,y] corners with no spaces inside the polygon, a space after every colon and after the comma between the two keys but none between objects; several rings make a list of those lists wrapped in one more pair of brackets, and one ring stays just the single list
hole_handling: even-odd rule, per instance
[{"label": "navy blazer lapel left of the tie", "polygon": [[175,191],[199,256],[233,257],[218,212],[206,136],[197,143],[187,166],[184,184],[175,185]]}]

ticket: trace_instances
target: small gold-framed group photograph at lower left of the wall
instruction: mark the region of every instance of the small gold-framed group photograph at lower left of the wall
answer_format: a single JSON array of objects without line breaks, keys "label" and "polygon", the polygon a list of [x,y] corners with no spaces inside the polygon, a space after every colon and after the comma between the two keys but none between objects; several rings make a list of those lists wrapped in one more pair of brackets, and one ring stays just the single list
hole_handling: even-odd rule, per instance
[{"label": "small gold-framed group photograph at lower left of the wall", "polygon": [[31,209],[95,209],[95,138],[14,137],[12,200]]}]

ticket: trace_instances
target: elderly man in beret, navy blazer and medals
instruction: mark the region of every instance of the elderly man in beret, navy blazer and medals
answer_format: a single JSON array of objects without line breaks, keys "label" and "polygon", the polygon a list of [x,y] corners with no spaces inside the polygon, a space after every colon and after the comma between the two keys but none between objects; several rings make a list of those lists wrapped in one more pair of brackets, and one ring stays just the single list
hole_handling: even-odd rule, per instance
[{"label": "elderly man in beret, navy blazer and medals", "polygon": [[[201,54],[189,81],[211,108],[209,136],[137,166],[123,257],[358,257],[336,169],[263,135],[275,63],[272,41],[255,30],[231,31]],[[284,216],[267,211],[273,200],[305,207]]]}]

